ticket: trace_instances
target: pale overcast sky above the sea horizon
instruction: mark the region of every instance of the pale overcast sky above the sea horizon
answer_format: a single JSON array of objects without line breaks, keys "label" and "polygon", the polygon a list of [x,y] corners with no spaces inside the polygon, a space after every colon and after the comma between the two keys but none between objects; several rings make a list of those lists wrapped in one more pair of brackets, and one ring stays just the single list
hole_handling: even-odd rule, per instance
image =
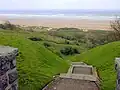
[{"label": "pale overcast sky above the sea horizon", "polygon": [[1,10],[119,9],[120,0],[0,0]]}]

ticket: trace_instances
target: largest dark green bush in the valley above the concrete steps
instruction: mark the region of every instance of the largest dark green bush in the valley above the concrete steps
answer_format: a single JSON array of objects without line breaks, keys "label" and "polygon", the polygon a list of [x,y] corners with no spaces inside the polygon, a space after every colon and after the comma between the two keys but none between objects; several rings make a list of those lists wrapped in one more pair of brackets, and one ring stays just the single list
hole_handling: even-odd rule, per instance
[{"label": "largest dark green bush in the valley above the concrete steps", "polygon": [[80,54],[80,52],[76,48],[72,47],[64,47],[60,50],[63,55],[73,55],[73,54]]}]

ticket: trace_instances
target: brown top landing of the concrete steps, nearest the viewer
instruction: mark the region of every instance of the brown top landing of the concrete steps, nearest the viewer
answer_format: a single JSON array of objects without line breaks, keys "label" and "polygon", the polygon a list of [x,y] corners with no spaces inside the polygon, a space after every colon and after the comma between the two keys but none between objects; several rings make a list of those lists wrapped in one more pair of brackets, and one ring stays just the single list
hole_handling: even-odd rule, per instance
[{"label": "brown top landing of the concrete steps, nearest the viewer", "polygon": [[59,78],[44,90],[99,90],[99,88],[95,82]]}]

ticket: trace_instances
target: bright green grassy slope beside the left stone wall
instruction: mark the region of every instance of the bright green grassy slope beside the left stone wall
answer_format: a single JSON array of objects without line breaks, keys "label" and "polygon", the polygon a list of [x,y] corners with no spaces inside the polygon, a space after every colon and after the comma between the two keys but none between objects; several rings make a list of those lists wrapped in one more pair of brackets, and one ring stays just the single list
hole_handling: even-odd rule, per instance
[{"label": "bright green grassy slope beside the left stone wall", "polygon": [[39,42],[28,40],[28,36],[27,33],[1,31],[0,45],[19,49],[19,90],[40,90],[53,75],[66,71],[68,64]]}]

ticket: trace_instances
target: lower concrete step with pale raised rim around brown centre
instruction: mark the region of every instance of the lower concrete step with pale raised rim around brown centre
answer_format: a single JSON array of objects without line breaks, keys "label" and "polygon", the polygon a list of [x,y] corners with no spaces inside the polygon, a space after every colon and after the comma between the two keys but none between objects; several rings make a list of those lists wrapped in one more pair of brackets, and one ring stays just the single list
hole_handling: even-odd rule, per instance
[{"label": "lower concrete step with pale raised rim around brown centre", "polygon": [[72,63],[68,72],[66,74],[60,74],[60,77],[89,81],[97,81],[98,79],[95,68],[93,68],[91,65],[86,65],[80,62]]}]

